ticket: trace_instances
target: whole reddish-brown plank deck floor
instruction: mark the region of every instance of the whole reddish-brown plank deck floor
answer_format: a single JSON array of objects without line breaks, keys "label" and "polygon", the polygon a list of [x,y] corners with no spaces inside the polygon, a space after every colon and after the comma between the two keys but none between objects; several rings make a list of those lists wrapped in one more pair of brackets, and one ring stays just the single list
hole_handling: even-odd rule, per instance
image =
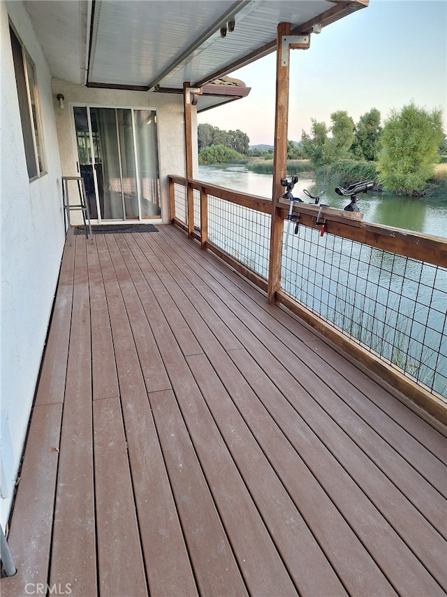
[{"label": "whole reddish-brown plank deck floor", "polygon": [[175,227],[75,237],[1,594],[446,595],[442,431]]}]

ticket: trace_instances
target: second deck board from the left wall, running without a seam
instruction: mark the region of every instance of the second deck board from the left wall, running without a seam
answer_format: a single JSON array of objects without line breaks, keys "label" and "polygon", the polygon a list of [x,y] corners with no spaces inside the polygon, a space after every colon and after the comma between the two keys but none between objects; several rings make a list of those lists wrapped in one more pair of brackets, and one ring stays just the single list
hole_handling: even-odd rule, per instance
[{"label": "second deck board from the left wall, running without a seam", "polygon": [[50,584],[96,588],[91,328],[86,246],[76,244],[73,311],[59,446]]}]

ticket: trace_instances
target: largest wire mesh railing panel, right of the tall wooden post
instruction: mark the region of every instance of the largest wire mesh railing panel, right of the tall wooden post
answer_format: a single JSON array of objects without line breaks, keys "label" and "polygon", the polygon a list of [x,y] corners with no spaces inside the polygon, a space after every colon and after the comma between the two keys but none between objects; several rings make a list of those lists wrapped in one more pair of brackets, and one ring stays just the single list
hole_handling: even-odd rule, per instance
[{"label": "largest wire mesh railing panel, right of the tall wooden post", "polygon": [[446,268],[299,225],[284,244],[281,287],[447,400]]}]

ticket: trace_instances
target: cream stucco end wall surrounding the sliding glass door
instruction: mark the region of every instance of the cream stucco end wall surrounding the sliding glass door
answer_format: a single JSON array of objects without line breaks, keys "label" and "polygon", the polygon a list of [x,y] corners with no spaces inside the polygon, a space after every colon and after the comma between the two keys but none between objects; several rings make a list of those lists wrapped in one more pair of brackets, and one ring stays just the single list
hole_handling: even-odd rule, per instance
[{"label": "cream stucco end wall surrounding the sliding glass door", "polygon": [[[73,139],[73,104],[113,106],[118,108],[149,108],[156,110],[159,139],[159,167],[161,186],[161,216],[169,221],[168,174],[185,176],[184,111],[181,94],[161,94],[141,91],[108,90],[75,85],[60,79],[52,80],[57,134],[64,176],[79,176],[78,160]],[[65,107],[59,108],[57,94],[64,95]],[[73,223],[81,223],[81,216],[73,212]]]}]

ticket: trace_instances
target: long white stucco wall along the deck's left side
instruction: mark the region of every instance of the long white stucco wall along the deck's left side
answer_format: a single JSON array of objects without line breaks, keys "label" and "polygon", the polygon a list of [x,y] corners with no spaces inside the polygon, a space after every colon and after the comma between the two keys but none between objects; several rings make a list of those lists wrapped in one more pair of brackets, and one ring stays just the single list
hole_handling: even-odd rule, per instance
[{"label": "long white stucco wall along the deck's left side", "polygon": [[[47,174],[29,182],[8,13],[36,64]],[[22,3],[0,0],[1,523],[10,510],[64,247],[50,71]]]}]

